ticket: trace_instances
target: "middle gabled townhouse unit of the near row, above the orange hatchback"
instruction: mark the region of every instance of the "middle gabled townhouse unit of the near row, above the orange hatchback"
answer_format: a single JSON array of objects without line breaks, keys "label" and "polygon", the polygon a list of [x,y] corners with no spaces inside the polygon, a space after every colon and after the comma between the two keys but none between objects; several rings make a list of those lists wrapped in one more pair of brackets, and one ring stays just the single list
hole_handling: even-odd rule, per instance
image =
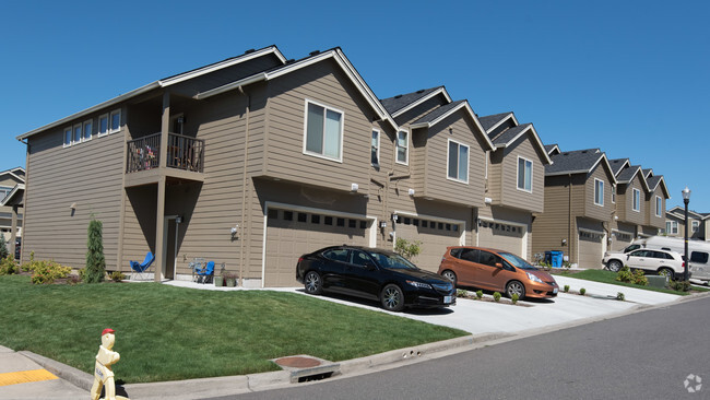
[{"label": "middle gabled townhouse unit of the near row, above the orange hatchback", "polygon": [[394,238],[422,242],[416,262],[436,271],[447,246],[476,243],[485,154],[494,145],[469,103],[451,101],[443,86],[381,103],[399,128],[394,152],[380,149],[394,163],[379,166],[377,185],[389,192],[387,208],[398,215]]}]

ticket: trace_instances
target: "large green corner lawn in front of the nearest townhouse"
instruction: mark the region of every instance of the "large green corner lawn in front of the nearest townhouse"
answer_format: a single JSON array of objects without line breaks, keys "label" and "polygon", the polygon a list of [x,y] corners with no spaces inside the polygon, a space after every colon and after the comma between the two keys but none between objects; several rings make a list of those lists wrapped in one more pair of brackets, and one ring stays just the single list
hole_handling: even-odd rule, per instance
[{"label": "large green corner lawn in front of the nearest townhouse", "polygon": [[32,285],[0,277],[0,344],[93,373],[104,328],[126,383],[279,369],[270,358],[350,360],[466,332],[271,291],[215,292],[157,283]]}]

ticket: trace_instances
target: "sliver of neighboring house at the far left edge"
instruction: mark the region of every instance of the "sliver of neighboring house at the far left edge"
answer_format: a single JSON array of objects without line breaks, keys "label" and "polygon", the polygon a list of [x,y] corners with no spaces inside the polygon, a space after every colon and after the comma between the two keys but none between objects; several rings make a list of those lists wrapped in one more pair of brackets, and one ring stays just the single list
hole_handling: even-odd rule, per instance
[{"label": "sliver of neighboring house at the far left edge", "polygon": [[[25,169],[15,167],[0,172],[0,231],[14,254],[15,237],[22,236],[22,196]],[[19,199],[19,202],[17,202]]]}]

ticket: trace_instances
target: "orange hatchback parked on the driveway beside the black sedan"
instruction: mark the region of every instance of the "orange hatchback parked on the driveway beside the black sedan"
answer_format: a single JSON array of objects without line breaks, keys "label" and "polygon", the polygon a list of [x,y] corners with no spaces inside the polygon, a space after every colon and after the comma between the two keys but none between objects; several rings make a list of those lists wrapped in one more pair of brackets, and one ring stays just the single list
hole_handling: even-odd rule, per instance
[{"label": "orange hatchback parked on the driveway beside the black sedan", "polygon": [[505,250],[485,247],[452,246],[441,259],[438,273],[454,286],[474,286],[504,292],[508,297],[548,298],[559,287],[547,272]]}]

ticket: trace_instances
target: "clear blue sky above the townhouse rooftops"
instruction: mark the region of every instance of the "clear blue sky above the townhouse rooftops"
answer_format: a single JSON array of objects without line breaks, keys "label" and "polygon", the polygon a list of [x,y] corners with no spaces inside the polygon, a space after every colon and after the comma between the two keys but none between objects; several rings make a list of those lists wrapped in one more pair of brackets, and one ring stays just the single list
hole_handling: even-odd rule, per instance
[{"label": "clear blue sky above the townhouse rooftops", "polygon": [[380,97],[446,85],[563,151],[600,148],[710,212],[707,1],[4,1],[0,169],[15,137],[146,83],[276,45],[340,46]]}]

